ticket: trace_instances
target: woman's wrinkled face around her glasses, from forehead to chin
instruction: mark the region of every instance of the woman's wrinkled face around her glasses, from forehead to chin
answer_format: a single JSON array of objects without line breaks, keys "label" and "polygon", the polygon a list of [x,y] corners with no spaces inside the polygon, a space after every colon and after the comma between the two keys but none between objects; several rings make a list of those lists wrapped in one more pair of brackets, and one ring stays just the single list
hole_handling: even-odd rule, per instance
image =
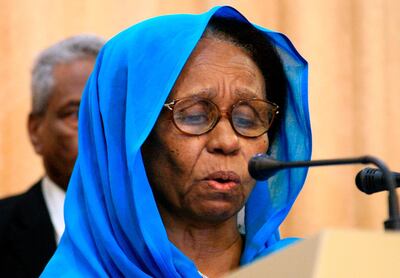
[{"label": "woman's wrinkled face around her glasses, from forehead to chin", "polygon": [[[266,99],[264,78],[241,48],[203,38],[179,76],[168,101],[201,96],[221,111],[238,100]],[[249,159],[268,148],[266,134],[246,138],[222,117],[208,133],[183,134],[163,109],[142,147],[143,160],[161,213],[196,222],[225,221],[243,207],[254,184]]]}]

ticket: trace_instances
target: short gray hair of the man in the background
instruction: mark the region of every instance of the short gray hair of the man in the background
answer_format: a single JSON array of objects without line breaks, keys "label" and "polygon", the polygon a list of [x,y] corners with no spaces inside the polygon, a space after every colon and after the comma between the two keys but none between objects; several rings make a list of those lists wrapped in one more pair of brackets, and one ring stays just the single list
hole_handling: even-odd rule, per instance
[{"label": "short gray hair of the man in the background", "polygon": [[54,67],[79,59],[94,58],[105,40],[95,35],[77,35],[43,50],[32,69],[32,113],[44,113],[54,87]]}]

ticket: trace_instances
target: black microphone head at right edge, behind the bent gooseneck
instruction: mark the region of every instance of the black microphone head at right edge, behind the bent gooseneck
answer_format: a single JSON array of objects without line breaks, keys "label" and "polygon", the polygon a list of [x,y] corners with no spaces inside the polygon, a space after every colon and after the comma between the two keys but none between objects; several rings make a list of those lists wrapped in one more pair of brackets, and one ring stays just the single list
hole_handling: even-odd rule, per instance
[{"label": "black microphone head at right edge, behind the bent gooseneck", "polygon": [[[395,179],[396,187],[400,187],[400,173],[392,172],[392,175]],[[358,172],[356,185],[358,189],[366,194],[388,190],[382,171],[374,168],[365,168]]]}]

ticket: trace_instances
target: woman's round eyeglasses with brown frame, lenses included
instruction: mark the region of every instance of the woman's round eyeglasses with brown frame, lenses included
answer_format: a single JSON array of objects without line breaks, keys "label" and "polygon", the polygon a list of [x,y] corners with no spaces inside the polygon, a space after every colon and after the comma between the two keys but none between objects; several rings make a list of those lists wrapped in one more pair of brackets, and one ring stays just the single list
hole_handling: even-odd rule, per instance
[{"label": "woman's round eyeglasses with brown frame, lenses included", "polygon": [[261,99],[245,99],[221,112],[209,99],[185,97],[165,103],[173,113],[174,125],[188,135],[201,135],[212,130],[226,114],[233,129],[245,137],[258,137],[271,127],[278,114],[278,105]]}]

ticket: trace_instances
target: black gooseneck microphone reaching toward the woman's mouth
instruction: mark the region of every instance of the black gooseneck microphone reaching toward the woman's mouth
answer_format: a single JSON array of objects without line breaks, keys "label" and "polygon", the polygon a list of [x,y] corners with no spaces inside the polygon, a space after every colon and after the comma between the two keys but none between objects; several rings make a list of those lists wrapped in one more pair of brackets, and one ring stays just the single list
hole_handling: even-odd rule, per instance
[{"label": "black gooseneck microphone reaching toward the woman's mouth", "polygon": [[[248,164],[248,171],[250,175],[256,180],[266,180],[269,177],[276,174],[276,172],[282,169],[288,168],[300,168],[300,167],[311,167],[311,166],[333,166],[333,165],[344,165],[344,164],[374,164],[380,169],[382,173],[382,179],[386,186],[384,189],[389,191],[388,195],[388,210],[389,218],[384,222],[386,230],[398,230],[400,231],[400,213],[399,213],[399,201],[396,193],[396,181],[392,172],[381,160],[373,156],[361,156],[353,158],[341,158],[341,159],[325,159],[325,160],[309,160],[309,161],[278,161],[266,154],[257,154],[253,156]],[[364,191],[363,191],[364,192]]]}]

